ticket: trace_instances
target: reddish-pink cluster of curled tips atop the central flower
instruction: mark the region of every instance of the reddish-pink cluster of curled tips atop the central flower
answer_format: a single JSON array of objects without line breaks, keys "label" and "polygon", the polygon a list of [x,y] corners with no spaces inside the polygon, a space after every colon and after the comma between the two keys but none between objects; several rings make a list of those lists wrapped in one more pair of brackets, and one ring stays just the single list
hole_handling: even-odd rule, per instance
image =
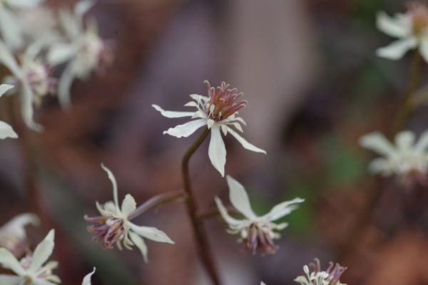
[{"label": "reddish-pink cluster of curled tips atop the central flower", "polygon": [[237,99],[244,93],[238,93],[237,88],[228,88],[229,84],[222,82],[217,88],[211,87],[208,81],[204,81],[208,87],[208,102],[204,105],[204,111],[209,118],[216,122],[225,120],[240,108],[245,107],[247,101]]}]

